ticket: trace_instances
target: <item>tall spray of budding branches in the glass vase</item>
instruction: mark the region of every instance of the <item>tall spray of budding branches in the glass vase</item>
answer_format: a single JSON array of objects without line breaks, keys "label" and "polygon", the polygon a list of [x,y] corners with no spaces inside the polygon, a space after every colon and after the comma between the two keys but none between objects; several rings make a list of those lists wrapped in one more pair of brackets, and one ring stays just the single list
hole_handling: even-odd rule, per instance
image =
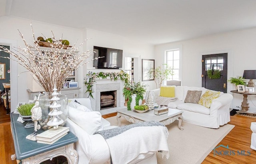
[{"label": "tall spray of budding branches in the glass vase", "polygon": [[[68,50],[64,50],[64,44],[62,45],[61,42],[50,43],[51,47],[49,50],[41,52],[38,40],[36,40],[34,36],[33,27],[31,24],[30,26],[34,38],[33,46],[26,42],[23,34],[18,30],[26,48],[19,47],[17,52],[13,52],[0,46],[0,51],[7,52],[16,59],[10,57],[4,58],[15,60],[18,64],[32,72],[37,78],[34,78],[34,80],[40,84],[46,92],[52,92],[54,84],[56,84],[56,88],[59,91],[67,78],[71,76],[72,72],[91,61],[86,61],[86,58],[89,58],[92,55],[92,50],[75,54],[78,48],[80,48],[88,39],[84,40],[78,47],[75,47],[75,43],[74,46]],[[55,39],[54,34],[53,38]],[[62,40],[62,38],[60,39]],[[32,49],[35,49],[35,51]]]}]

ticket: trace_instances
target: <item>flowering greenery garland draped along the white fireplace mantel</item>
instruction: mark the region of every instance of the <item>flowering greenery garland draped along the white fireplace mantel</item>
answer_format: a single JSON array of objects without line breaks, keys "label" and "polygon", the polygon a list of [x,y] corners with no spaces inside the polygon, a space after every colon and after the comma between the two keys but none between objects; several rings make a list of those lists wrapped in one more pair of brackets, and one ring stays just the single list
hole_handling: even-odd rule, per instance
[{"label": "flowering greenery garland draped along the white fireplace mantel", "polygon": [[[89,92],[88,97],[92,97],[92,86],[96,80],[96,78],[102,78],[102,79],[107,79],[108,77],[110,77],[110,80],[118,80],[118,78],[120,78],[120,80],[122,80],[123,82],[127,83],[129,81],[129,75],[127,73],[125,73],[123,70],[121,70],[120,72],[88,72],[88,74],[86,74],[86,78],[84,78],[84,85],[86,86],[86,92]],[[86,93],[85,92],[85,93]]]}]

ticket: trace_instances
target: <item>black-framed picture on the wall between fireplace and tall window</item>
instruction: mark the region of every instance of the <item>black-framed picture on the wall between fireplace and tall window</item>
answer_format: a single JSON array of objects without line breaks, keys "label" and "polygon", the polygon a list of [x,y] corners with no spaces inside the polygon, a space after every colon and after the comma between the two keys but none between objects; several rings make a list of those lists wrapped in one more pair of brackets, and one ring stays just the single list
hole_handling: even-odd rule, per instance
[{"label": "black-framed picture on the wall between fireplace and tall window", "polygon": [[154,80],[154,72],[150,74],[150,68],[155,69],[155,60],[142,59],[142,81]]}]

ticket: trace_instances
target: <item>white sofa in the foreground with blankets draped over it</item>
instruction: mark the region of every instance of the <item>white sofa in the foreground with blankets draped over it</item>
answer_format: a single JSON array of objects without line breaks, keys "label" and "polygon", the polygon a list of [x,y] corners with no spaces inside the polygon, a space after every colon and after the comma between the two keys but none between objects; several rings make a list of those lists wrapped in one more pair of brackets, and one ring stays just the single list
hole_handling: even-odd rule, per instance
[{"label": "white sofa in the foreground with blankets draped over it", "polygon": [[[69,99],[69,102],[77,100],[81,105],[92,110],[90,99],[76,98]],[[70,111],[69,111],[70,112]],[[69,113],[72,114],[72,113]],[[100,134],[89,135],[83,128],[73,122],[68,115],[66,126],[70,127],[70,131],[78,137],[75,143],[75,149],[78,152],[78,164],[110,164],[110,150],[106,140]],[[102,128],[106,130],[117,126],[110,126],[110,122],[101,118]],[[166,142],[167,143],[167,142]],[[157,164],[155,152],[142,154],[138,159],[133,160],[133,164]]]}]

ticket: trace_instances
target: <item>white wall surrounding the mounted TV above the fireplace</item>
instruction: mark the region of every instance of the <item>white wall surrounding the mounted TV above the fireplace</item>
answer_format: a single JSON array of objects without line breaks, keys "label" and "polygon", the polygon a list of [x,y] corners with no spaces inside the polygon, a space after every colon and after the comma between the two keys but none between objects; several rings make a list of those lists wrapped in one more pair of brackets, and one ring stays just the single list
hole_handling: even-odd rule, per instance
[{"label": "white wall surrounding the mounted TV above the fireplace", "polygon": [[[106,32],[100,32],[97,30],[87,29],[87,37],[91,38],[87,42],[87,49],[92,50],[93,46],[100,46],[100,47],[107,47],[107,48],[114,48],[114,49],[121,49],[123,50],[123,69],[124,69],[124,58],[125,56],[140,58],[140,61],[138,62],[138,68],[140,72],[139,81],[142,80],[141,78],[141,59],[155,59],[154,58],[154,46],[150,44],[144,44],[136,40],[129,40],[124,38],[123,36],[110,34]],[[93,56],[91,56],[90,59],[93,59]],[[89,60],[90,60],[89,59]],[[95,69],[95,67],[92,66],[92,62],[87,64],[87,72],[115,72],[120,70],[104,70],[104,69]],[[136,81],[138,82],[138,81]],[[153,81],[143,81],[143,83],[148,84],[148,90],[152,90],[155,88]]]}]

